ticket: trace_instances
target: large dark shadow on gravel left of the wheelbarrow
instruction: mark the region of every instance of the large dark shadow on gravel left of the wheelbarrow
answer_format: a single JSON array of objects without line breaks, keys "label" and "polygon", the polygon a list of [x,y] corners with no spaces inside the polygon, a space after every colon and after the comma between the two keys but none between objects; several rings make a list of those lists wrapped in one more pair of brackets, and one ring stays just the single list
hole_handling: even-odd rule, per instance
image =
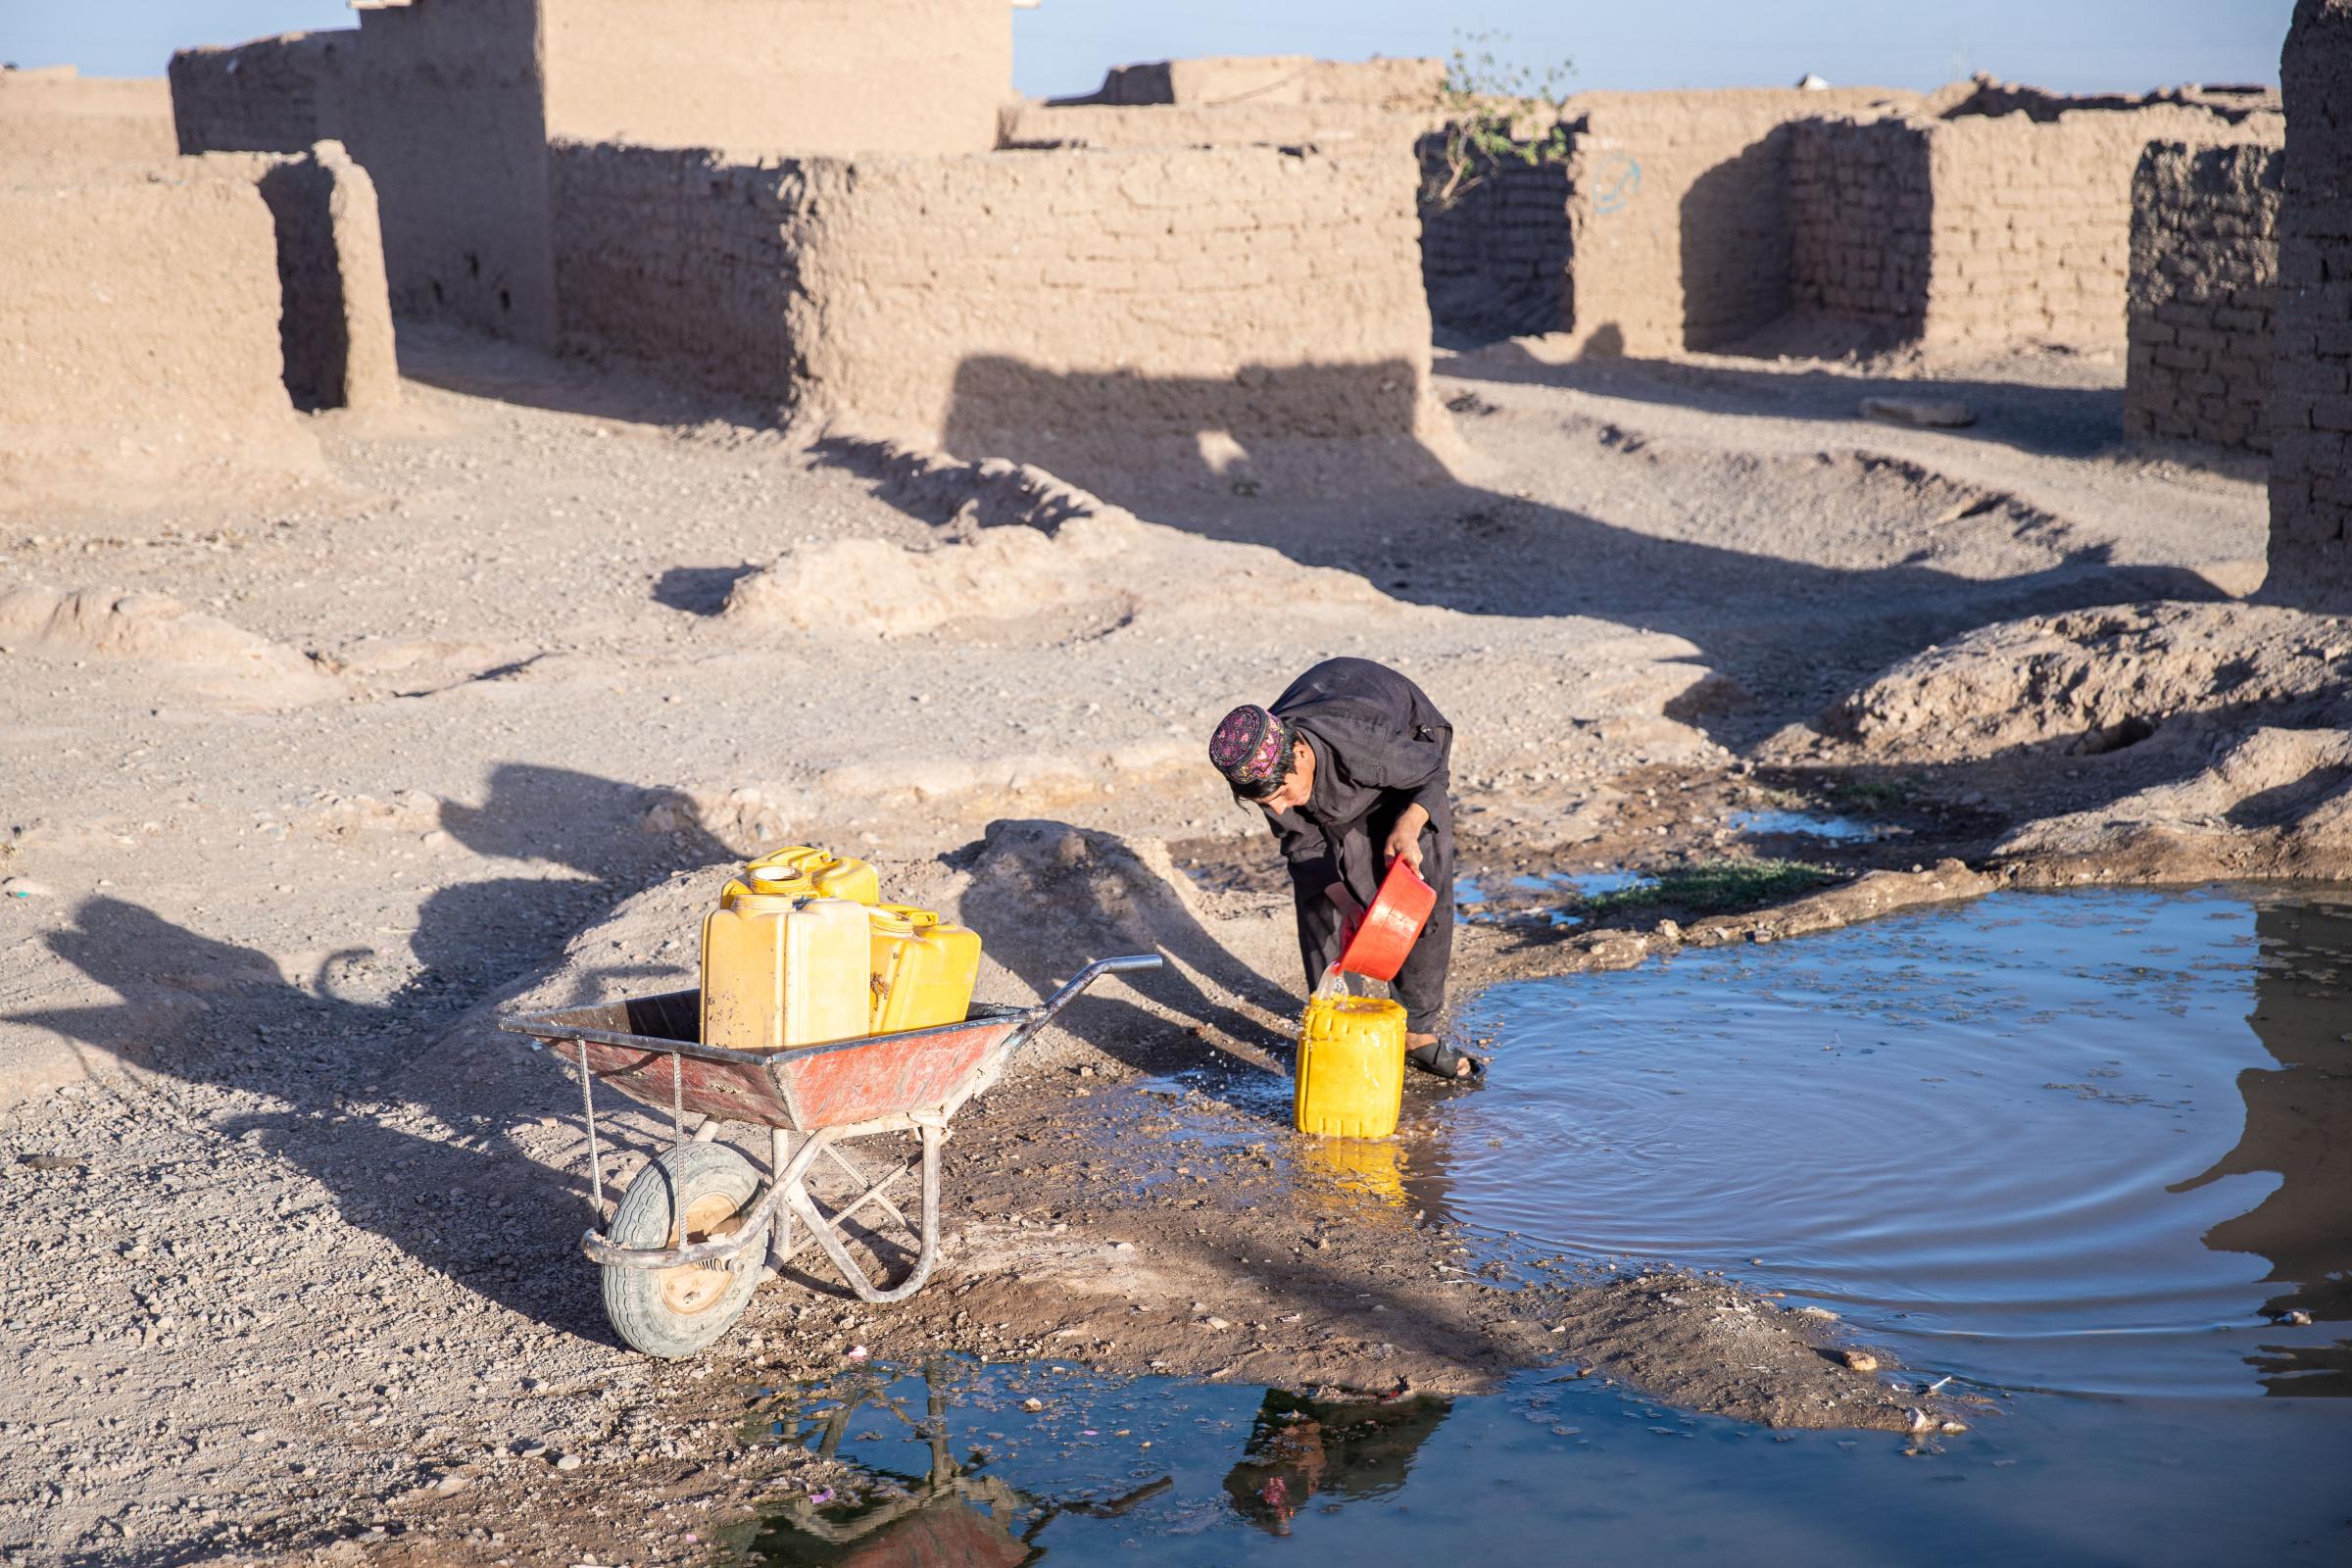
[{"label": "large dark shadow on gravel left of the wheelbarrow", "polygon": [[[503,1084],[459,1081],[428,1051],[463,1009],[562,952],[572,931],[621,898],[677,865],[727,856],[696,827],[659,839],[640,832],[642,802],[637,785],[508,764],[482,806],[445,806],[442,825],[475,851],[550,858],[586,877],[499,877],[435,891],[412,936],[419,966],[381,997],[367,997],[379,969],[372,950],[329,954],[315,976],[289,978],[259,947],[99,896],[47,940],[120,1001],[7,1023],[54,1030],[148,1074],[238,1093],[259,1107],[212,1119],[207,1131],[303,1171],[343,1222],[508,1312],[614,1342],[576,1246],[586,1171],[550,1173],[508,1138],[517,1119],[572,1105],[576,1088],[555,1063],[524,1065],[520,1041],[515,1063],[496,1063],[496,1077],[527,1088],[520,1103],[501,1098]],[[590,983],[626,983],[630,973],[609,969]],[[543,1084],[529,1088],[539,1077]],[[395,1119],[447,1131],[405,1131]]]}]

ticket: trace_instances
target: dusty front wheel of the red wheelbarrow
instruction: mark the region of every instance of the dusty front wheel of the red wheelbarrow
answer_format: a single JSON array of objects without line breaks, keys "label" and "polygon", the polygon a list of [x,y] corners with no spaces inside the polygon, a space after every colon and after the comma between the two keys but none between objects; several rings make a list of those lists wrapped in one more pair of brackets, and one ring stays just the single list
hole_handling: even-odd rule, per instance
[{"label": "dusty front wheel of the red wheelbarrow", "polygon": [[[720,1143],[682,1143],[621,1194],[604,1234],[614,1246],[663,1248],[724,1234],[760,1190],[748,1159]],[[753,1215],[764,1229],[764,1215]],[[604,1316],[649,1356],[675,1361],[727,1333],[760,1284],[767,1246],[753,1239],[734,1258],[675,1269],[604,1265]]]}]

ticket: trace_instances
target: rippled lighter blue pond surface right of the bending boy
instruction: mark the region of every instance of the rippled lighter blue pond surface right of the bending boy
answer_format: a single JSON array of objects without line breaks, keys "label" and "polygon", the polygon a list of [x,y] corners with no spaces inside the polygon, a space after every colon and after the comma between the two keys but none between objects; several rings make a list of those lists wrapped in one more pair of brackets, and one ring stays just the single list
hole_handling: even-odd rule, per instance
[{"label": "rippled lighter blue pond surface right of the bending boy", "polygon": [[1498,987],[1463,1016],[1494,1086],[1411,1128],[1411,1180],[1971,1378],[2343,1392],[2347,976],[2340,896],[2100,891]]}]

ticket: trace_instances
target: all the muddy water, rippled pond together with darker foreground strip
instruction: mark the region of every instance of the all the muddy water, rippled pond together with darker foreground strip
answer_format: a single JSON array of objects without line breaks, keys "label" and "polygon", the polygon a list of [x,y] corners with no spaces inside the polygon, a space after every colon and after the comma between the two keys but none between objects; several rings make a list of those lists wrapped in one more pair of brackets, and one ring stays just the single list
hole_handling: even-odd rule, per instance
[{"label": "all the muddy water, rippled pond together with darker foreground strip", "polygon": [[1489,1088],[1298,1180],[1505,1262],[1788,1291],[1983,1415],[1776,1434],[1564,1371],[1381,1401],[861,1368],[750,1420],[903,1495],[793,1497],[722,1556],[2352,1561],[2352,898],[2002,893],[1461,1023]]}]

